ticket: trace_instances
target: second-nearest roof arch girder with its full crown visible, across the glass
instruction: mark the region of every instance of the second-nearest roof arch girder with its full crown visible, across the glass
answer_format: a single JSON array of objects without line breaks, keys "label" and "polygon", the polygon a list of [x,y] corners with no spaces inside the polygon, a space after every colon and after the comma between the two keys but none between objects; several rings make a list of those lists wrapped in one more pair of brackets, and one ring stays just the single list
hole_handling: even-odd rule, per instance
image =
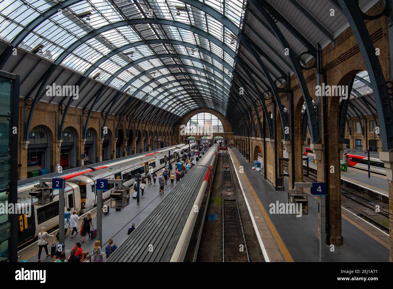
[{"label": "second-nearest roof arch girder with its full crown visible, across the glass", "polygon": [[[199,52],[202,52],[204,54],[206,54],[207,56],[213,58],[214,60],[216,60],[217,62],[219,62],[220,64],[222,64],[222,66],[224,66],[226,69],[228,69],[229,71],[232,70],[232,66],[224,61],[222,59],[222,57],[219,57],[219,55],[210,52],[209,50],[199,46],[199,45],[195,45],[195,44],[191,44],[188,42],[184,42],[184,41],[179,41],[179,40],[172,40],[172,39],[151,39],[151,40],[145,40],[145,41],[137,41],[131,44],[126,44],[124,46],[121,46],[119,48],[116,48],[112,51],[110,51],[107,55],[104,55],[103,57],[101,57],[100,59],[98,59],[96,62],[94,62],[94,64],[92,64],[92,66],[90,66],[88,68],[88,70],[86,70],[83,75],[88,77],[90,75],[90,73],[92,73],[98,66],[100,66],[103,62],[105,62],[106,60],[110,59],[112,56],[120,53],[121,51],[130,49],[130,48],[134,48],[134,47],[138,47],[141,45],[149,45],[149,44],[173,44],[173,45],[178,45],[178,46],[184,46],[184,47],[188,47],[191,49],[195,49],[197,48]],[[169,55],[169,54],[158,54],[158,56],[161,57],[161,55]],[[183,54],[177,54],[177,55],[183,55]],[[154,56],[154,55],[152,55]],[[187,55],[188,56],[188,55]],[[162,56],[162,57],[173,57],[173,56]],[[191,56],[189,56],[191,57]],[[145,57],[143,57],[142,59],[145,59]],[[191,57],[190,59],[196,59],[195,61],[200,61],[201,59],[196,58],[196,57]],[[137,59],[139,60],[139,59]],[[134,62],[136,62],[137,60],[134,60]],[[133,62],[133,63],[134,63]],[[211,64],[209,63],[209,67],[211,66]]]}]

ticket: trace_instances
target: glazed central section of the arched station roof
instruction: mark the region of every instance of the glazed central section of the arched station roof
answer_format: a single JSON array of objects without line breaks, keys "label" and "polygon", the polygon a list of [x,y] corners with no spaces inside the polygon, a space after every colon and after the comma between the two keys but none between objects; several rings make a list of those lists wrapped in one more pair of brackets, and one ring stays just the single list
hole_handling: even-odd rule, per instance
[{"label": "glazed central section of the arched station roof", "polygon": [[0,37],[177,115],[225,114],[245,2],[2,0]]}]

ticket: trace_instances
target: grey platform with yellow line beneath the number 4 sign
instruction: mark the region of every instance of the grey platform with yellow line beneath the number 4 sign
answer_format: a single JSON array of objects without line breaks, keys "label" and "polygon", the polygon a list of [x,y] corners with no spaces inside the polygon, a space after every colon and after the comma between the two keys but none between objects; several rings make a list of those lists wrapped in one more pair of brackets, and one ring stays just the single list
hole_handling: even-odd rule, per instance
[{"label": "grey platform with yellow line beneath the number 4 sign", "polygon": [[[292,214],[269,214],[270,204],[288,202],[288,178],[285,191],[275,191],[263,179],[261,172],[253,171],[243,155],[229,149],[239,182],[249,206],[261,247],[270,262],[318,262],[318,199],[309,196],[309,214],[297,218]],[[326,245],[327,262],[389,262],[389,235],[374,225],[342,208],[342,235],[344,244],[334,252]]]}]

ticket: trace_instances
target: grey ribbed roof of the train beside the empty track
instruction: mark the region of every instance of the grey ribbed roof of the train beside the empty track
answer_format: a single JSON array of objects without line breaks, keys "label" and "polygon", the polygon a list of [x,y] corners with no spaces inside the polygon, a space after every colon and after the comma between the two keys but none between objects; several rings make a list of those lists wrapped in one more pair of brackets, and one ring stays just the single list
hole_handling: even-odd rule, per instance
[{"label": "grey ribbed roof of the train beside the empty track", "polygon": [[[218,144],[162,199],[107,262],[169,262],[183,232]],[[149,244],[154,251],[149,252]]]}]

